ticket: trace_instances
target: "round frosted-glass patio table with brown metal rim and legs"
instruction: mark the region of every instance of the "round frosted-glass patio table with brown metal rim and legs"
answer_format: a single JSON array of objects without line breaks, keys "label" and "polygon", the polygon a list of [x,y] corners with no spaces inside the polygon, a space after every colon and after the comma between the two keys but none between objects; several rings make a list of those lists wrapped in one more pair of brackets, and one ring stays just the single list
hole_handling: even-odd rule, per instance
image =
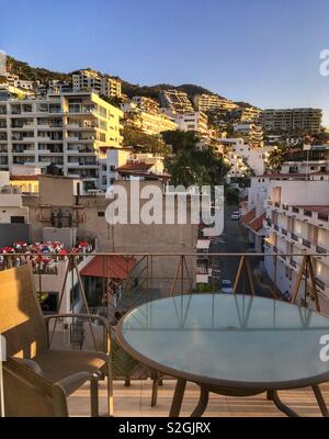
[{"label": "round frosted-glass patio table with brown metal rim and legs", "polygon": [[328,416],[318,386],[329,380],[329,361],[322,354],[326,335],[329,318],[316,312],[272,299],[220,293],[145,303],[127,313],[116,331],[131,356],[178,379],[170,416],[180,413],[186,381],[201,387],[192,416],[203,414],[209,392],[266,392],[277,408],[297,416],[277,391],[304,386],[313,387]]}]

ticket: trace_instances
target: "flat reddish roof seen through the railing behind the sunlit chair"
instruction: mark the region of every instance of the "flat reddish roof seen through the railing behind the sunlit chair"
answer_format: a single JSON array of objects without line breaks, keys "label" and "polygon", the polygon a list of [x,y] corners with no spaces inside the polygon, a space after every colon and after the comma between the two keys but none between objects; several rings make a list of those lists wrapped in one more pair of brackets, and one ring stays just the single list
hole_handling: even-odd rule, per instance
[{"label": "flat reddish roof seen through the railing behind the sunlit chair", "polygon": [[127,279],[129,272],[136,266],[134,257],[124,256],[95,256],[80,274],[91,278]]}]

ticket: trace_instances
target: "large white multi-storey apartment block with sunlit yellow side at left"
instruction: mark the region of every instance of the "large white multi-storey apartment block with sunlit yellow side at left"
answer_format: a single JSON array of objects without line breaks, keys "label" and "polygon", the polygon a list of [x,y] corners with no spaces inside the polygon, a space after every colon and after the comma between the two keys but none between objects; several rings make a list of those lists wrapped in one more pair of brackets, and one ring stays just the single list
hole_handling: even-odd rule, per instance
[{"label": "large white multi-storey apartment block with sunlit yellow side at left", "polygon": [[121,147],[123,113],[93,92],[0,102],[0,169],[55,164],[64,176],[97,187],[99,160]]}]

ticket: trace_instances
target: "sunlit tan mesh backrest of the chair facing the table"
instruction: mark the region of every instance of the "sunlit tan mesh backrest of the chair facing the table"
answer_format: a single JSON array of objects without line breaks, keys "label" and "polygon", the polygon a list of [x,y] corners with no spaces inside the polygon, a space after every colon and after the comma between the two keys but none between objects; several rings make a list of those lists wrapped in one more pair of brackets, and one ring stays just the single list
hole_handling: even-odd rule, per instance
[{"label": "sunlit tan mesh backrest of the chair facing the table", "polygon": [[47,349],[47,329],[30,266],[0,271],[0,334],[8,356],[33,358]]}]

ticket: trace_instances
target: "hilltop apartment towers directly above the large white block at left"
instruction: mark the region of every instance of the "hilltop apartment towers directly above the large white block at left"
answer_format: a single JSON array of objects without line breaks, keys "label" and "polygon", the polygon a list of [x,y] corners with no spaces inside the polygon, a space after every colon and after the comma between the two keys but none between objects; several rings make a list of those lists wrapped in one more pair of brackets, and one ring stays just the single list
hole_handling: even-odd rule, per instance
[{"label": "hilltop apartment towers directly above the large white block at left", "polygon": [[122,97],[122,81],[109,75],[102,75],[92,69],[82,69],[72,74],[73,91],[93,90],[107,98]]}]

